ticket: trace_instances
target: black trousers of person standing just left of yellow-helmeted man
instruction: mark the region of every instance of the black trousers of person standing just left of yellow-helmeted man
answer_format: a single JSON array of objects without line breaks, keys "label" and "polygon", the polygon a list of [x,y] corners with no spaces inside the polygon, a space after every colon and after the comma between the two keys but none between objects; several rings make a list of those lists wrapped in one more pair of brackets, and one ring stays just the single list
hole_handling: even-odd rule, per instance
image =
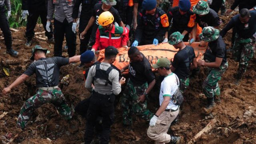
[{"label": "black trousers of person standing just left of yellow-helmeted man", "polygon": [[84,39],[80,38],[80,34],[84,31],[87,24],[88,22],[83,22],[80,19],[80,24],[79,24],[80,54],[84,53],[87,50],[88,43],[92,34],[92,28],[90,28],[86,33],[86,35],[84,36]]}]

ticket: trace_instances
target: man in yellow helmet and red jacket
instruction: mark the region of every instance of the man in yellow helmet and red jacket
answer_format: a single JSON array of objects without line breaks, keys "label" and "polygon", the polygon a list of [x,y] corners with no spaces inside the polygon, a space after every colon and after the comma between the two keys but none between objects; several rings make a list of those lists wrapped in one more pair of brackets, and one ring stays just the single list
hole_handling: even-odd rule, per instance
[{"label": "man in yellow helmet and red jacket", "polygon": [[126,27],[115,26],[114,16],[109,12],[102,12],[98,18],[99,27],[96,32],[96,41],[92,51],[102,50],[108,46],[128,49],[129,30]]}]

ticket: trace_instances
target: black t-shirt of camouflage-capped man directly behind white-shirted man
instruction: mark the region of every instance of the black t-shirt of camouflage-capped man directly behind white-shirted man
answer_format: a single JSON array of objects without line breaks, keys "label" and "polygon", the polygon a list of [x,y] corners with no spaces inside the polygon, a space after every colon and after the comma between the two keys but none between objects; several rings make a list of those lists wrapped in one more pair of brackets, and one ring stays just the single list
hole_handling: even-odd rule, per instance
[{"label": "black t-shirt of camouflage-capped man directly behind white-shirted man", "polygon": [[194,48],[191,46],[186,46],[174,55],[172,66],[176,68],[174,73],[178,76],[178,78],[188,78],[190,65],[194,58],[196,58],[196,55]]}]

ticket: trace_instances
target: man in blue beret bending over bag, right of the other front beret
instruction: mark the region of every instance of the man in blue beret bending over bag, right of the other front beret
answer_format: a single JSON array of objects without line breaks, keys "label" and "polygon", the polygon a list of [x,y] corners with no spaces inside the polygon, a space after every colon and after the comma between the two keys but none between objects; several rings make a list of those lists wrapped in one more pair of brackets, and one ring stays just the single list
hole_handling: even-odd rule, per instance
[{"label": "man in blue beret bending over bag, right of the other front beret", "polygon": [[[168,31],[168,37],[165,36],[164,42],[168,42],[168,38],[174,32],[180,32],[184,38],[183,41],[188,41],[188,35],[191,32],[194,25],[190,25],[190,17],[194,15],[194,13],[190,10],[191,3],[190,0],[180,0],[179,6],[174,8],[170,8],[167,12],[169,24],[172,21],[172,26]],[[194,15],[195,16],[195,15]]]}]

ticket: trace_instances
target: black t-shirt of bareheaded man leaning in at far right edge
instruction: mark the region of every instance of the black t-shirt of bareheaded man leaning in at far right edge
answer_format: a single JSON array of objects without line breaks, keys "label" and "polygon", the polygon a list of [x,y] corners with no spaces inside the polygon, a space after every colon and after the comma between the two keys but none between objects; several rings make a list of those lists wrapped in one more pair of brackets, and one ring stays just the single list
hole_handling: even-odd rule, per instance
[{"label": "black t-shirt of bareheaded man leaning in at far right edge", "polygon": [[252,37],[256,32],[256,10],[250,10],[250,20],[247,23],[242,23],[239,20],[240,14],[237,14],[233,18],[231,18],[230,22],[223,28],[223,30],[220,32],[220,35],[224,37],[228,30],[235,27],[236,32],[238,33],[238,36],[241,38],[250,38]]}]

